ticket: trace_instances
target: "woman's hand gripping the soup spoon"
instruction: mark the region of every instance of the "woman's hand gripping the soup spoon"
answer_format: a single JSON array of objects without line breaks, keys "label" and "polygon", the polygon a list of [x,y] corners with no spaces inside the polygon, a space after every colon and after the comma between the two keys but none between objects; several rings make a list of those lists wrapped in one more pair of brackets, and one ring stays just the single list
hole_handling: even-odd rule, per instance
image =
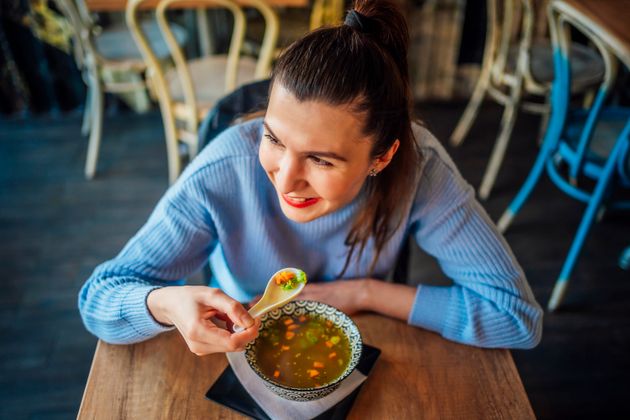
[{"label": "woman's hand gripping the soup spoon", "polygon": [[[219,289],[207,286],[170,286],[154,289],[147,297],[153,317],[162,324],[174,325],[198,356],[242,351],[258,336],[260,320],[243,305]],[[229,320],[245,330],[232,333],[212,318]]]}]

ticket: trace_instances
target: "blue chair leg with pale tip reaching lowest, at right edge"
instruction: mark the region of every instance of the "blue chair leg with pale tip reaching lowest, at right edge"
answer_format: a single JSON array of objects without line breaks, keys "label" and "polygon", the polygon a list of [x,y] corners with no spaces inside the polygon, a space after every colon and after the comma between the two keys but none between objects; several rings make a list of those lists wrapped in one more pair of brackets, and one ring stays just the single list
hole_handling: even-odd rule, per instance
[{"label": "blue chair leg with pale tip reaching lowest, at right edge", "polygon": [[[630,128],[630,124],[627,126],[627,128]],[[547,309],[550,312],[555,311],[564,298],[567,290],[567,285],[569,283],[569,277],[571,276],[573,267],[575,266],[580,251],[582,250],[582,245],[584,245],[586,235],[588,235],[588,232],[593,225],[593,222],[595,221],[595,217],[597,216],[597,212],[600,209],[601,203],[610,188],[618,156],[623,150],[623,143],[625,141],[628,141],[628,131],[628,129],[625,129],[624,133],[622,133],[622,136],[618,138],[615,147],[613,148],[610,156],[608,157],[608,160],[606,161],[606,166],[604,167],[601,177],[597,181],[595,190],[593,191],[591,199],[588,202],[588,206],[586,207],[586,212],[582,217],[582,221],[580,222],[578,231],[575,235],[575,238],[573,239],[573,243],[571,244],[571,249],[569,250],[567,259],[564,262],[562,271],[560,272],[560,276],[558,277],[558,280],[554,285],[553,292],[551,293],[551,298],[549,299],[549,303],[547,304]]]}]

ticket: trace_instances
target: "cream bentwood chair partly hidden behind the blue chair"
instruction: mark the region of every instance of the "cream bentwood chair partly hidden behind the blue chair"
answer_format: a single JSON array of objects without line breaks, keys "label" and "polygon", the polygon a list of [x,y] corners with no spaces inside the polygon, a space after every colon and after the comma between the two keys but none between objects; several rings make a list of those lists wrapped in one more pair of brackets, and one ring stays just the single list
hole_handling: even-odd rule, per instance
[{"label": "cream bentwood chair partly hidden behind the blue chair", "polygon": [[[505,156],[519,109],[543,115],[541,133],[549,113],[553,60],[546,33],[544,7],[534,0],[487,0],[486,43],[481,73],[457,126],[451,144],[459,146],[472,126],[486,96],[504,106],[499,133],[486,167],[479,197],[488,198]],[[542,3],[542,1],[538,1]],[[542,11],[542,12],[540,12]],[[574,92],[585,92],[604,75],[604,65],[591,48],[571,46]]]}]

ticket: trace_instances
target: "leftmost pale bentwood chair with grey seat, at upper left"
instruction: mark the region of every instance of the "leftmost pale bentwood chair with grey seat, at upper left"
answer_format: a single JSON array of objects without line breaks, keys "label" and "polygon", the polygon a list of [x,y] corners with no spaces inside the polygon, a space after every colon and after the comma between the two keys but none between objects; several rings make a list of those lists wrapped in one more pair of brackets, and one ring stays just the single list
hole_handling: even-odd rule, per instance
[{"label": "leftmost pale bentwood chair with grey seat, at upper left", "polygon": [[[122,96],[141,111],[150,107],[144,79],[146,65],[126,27],[101,28],[90,15],[83,0],[55,0],[59,10],[74,28],[74,56],[88,86],[81,132],[89,134],[85,176],[96,173],[103,131],[104,93]],[[168,57],[155,23],[143,23],[158,60]],[[173,28],[178,44],[186,42],[186,32]]]}]

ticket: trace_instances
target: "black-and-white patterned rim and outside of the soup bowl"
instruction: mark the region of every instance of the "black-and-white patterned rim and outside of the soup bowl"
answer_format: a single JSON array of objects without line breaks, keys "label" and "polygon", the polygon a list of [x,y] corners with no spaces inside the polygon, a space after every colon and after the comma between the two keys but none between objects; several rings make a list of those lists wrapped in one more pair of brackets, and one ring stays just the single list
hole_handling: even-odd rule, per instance
[{"label": "black-and-white patterned rim and outside of the soup bowl", "polygon": [[285,315],[317,315],[331,321],[333,324],[341,328],[350,342],[350,361],[348,362],[348,366],[343,374],[341,374],[341,376],[339,376],[335,381],[329,382],[320,387],[294,388],[279,384],[265,375],[258,367],[255,352],[258,339],[249,343],[247,347],[245,347],[245,359],[247,360],[247,363],[253,371],[263,379],[267,388],[271,389],[275,394],[288,400],[312,401],[330,394],[339,387],[341,381],[347,378],[352,371],[354,371],[359,363],[359,359],[361,359],[363,341],[361,340],[359,328],[348,315],[344,314],[337,308],[312,300],[296,300],[263,315],[260,329],[262,330],[272,322]]}]

